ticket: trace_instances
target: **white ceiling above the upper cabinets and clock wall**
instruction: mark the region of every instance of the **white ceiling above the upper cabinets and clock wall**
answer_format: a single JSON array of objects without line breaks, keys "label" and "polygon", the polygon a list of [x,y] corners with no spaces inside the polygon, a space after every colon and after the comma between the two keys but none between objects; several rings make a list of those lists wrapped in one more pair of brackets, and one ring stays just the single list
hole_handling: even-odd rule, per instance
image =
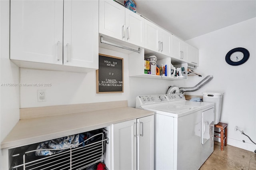
[{"label": "white ceiling above the upper cabinets and clock wall", "polygon": [[256,0],[135,0],[137,13],[183,40],[256,17]]}]

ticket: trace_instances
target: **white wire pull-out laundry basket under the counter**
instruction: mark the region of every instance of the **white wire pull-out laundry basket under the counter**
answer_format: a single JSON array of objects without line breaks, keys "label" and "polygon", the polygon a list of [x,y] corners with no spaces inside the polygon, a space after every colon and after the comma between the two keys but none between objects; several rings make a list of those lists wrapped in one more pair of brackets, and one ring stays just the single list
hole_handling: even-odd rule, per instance
[{"label": "white wire pull-out laundry basket under the counter", "polygon": [[[100,137],[100,140],[90,144],[84,144],[84,142],[94,137]],[[104,146],[105,143],[108,143],[108,138],[103,133],[99,133],[87,140],[50,156],[29,156],[30,153],[38,150],[25,152],[22,163],[12,166],[12,170],[81,170],[97,162],[103,162]],[[17,154],[14,156],[20,155]]]}]

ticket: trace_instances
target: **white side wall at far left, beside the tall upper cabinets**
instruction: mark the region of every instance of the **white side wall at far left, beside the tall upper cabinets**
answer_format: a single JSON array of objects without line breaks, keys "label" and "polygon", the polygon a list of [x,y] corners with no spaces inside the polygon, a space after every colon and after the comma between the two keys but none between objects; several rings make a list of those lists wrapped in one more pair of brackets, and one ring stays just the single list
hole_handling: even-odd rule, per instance
[{"label": "white side wall at far left, beside the tall upper cabinets", "polygon": [[10,2],[1,0],[0,4],[0,141],[2,141],[18,122],[20,112],[19,87],[6,85],[6,83],[19,83],[19,68],[9,59]]}]

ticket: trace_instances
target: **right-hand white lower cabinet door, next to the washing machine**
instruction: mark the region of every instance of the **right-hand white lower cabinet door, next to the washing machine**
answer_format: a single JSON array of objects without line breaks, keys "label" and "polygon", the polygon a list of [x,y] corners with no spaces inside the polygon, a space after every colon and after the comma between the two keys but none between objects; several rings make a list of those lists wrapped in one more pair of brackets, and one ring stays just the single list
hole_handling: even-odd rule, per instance
[{"label": "right-hand white lower cabinet door, next to the washing machine", "polygon": [[154,169],[154,115],[137,119],[138,170]]}]

